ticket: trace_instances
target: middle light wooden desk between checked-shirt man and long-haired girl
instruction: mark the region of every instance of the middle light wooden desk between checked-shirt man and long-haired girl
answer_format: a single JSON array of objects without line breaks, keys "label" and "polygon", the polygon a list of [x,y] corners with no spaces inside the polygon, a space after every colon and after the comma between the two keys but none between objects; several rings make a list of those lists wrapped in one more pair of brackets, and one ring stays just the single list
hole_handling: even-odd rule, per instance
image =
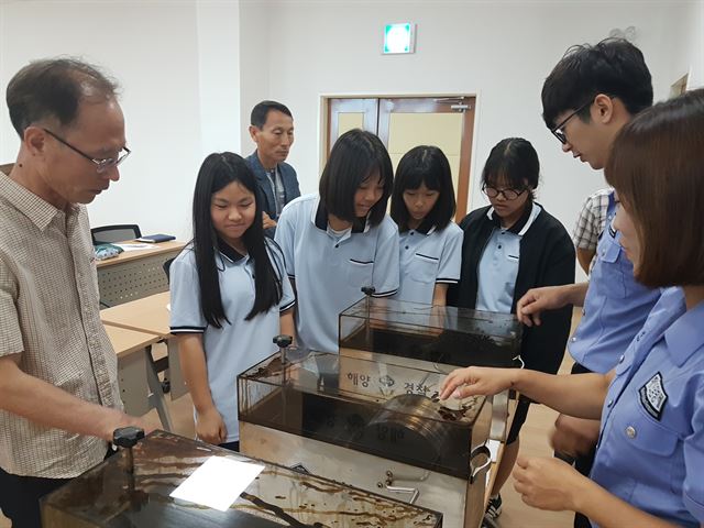
[{"label": "middle light wooden desk between checked-shirt man and long-haired girl", "polygon": [[[186,384],[180,373],[178,344],[170,334],[170,312],[166,308],[170,300],[168,292],[151,295],[123,305],[106,308],[100,311],[100,319],[106,328],[118,327],[156,337],[156,341],[166,341],[168,351],[168,378],[172,399],[186,394]],[[150,354],[151,358],[151,354]]]}]

